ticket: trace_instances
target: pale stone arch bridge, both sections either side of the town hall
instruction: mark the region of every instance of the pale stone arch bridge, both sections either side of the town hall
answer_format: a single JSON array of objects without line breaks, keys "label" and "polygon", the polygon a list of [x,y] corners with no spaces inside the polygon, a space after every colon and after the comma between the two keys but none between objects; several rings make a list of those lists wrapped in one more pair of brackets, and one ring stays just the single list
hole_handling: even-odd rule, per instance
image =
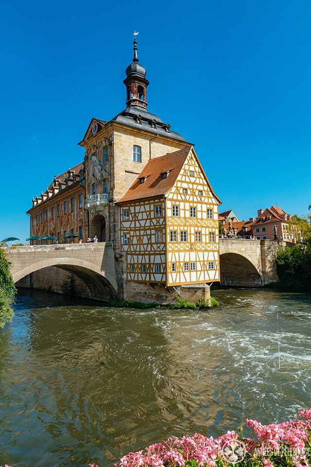
[{"label": "pale stone arch bridge, both sections either side of the town hall", "polygon": [[[276,281],[275,254],[278,245],[274,240],[221,239],[221,284],[262,287]],[[42,278],[51,274],[52,270],[60,275],[61,272],[57,272],[60,268],[81,279],[87,286],[88,296],[94,299],[111,301],[119,297],[122,300],[137,300],[138,295],[142,296],[143,289],[139,287],[143,285],[136,284],[134,292],[129,292],[130,283],[125,283],[123,278],[124,265],[121,263],[124,258],[115,254],[110,242],[20,246],[5,248],[5,251],[12,263],[11,273],[15,283],[26,276],[31,277],[36,271],[36,275],[42,274]],[[155,285],[153,288],[159,289],[155,293],[159,301],[162,300],[159,294],[163,294],[163,286]]]}]

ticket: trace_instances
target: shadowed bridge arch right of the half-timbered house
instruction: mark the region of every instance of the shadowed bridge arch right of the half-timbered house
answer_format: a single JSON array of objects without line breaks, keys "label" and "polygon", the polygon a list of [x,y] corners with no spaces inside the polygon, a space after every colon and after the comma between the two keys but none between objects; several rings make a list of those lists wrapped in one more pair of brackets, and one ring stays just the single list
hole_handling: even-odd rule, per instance
[{"label": "shadowed bridge arch right of the half-timbered house", "polygon": [[261,261],[254,264],[253,258],[241,251],[225,251],[219,256],[221,284],[230,287],[261,287]]}]

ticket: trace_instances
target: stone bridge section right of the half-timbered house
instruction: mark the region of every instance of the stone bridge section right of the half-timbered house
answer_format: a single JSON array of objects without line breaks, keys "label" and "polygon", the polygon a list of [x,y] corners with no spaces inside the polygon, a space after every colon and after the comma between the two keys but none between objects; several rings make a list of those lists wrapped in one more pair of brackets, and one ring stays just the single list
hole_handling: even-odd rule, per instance
[{"label": "stone bridge section right of the half-timbered house", "polygon": [[275,240],[223,238],[219,240],[221,284],[230,287],[262,287],[278,280]]}]

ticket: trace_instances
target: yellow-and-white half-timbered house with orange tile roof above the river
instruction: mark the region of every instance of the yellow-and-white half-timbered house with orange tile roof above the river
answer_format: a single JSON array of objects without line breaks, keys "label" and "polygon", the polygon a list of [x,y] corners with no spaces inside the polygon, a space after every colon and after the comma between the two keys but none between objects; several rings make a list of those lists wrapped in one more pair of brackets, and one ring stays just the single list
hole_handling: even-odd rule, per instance
[{"label": "yellow-and-white half-timbered house with orange tile roof above the river", "polygon": [[149,161],[118,202],[126,280],[166,287],[219,281],[219,203],[193,147]]}]

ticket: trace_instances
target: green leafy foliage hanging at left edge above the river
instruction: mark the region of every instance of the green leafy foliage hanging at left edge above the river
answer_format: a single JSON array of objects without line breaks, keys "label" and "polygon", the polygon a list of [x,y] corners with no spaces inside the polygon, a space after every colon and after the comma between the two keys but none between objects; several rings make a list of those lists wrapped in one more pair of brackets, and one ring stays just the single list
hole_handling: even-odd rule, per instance
[{"label": "green leafy foliage hanging at left edge above the river", "polygon": [[15,302],[17,290],[10,272],[10,265],[5,251],[0,248],[0,329],[5,323],[12,321],[14,316],[10,301]]}]

